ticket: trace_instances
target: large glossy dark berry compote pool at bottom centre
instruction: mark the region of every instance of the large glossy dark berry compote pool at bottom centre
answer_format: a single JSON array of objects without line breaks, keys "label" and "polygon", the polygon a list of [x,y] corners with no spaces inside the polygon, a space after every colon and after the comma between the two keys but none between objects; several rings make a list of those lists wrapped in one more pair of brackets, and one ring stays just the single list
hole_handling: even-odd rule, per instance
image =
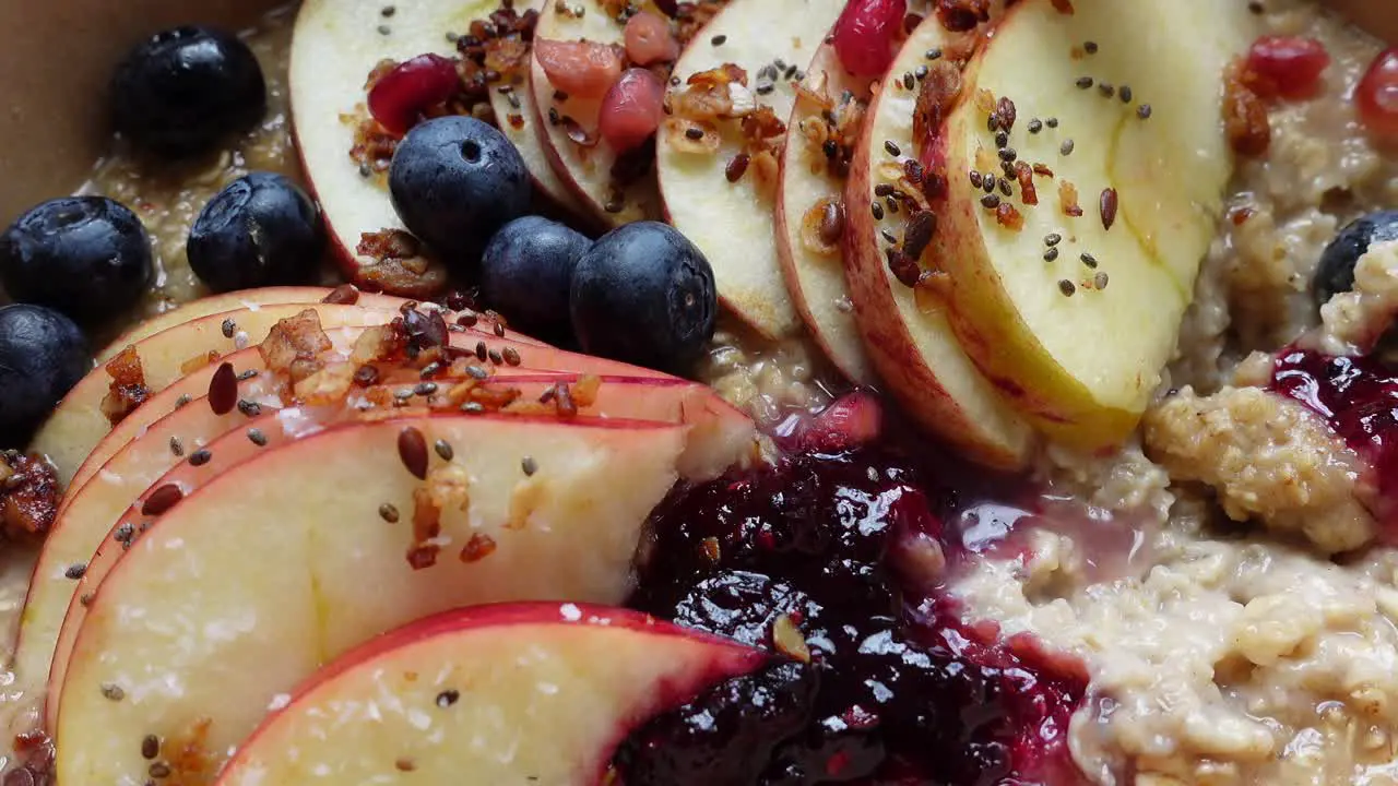
[{"label": "large glossy dark berry compote pool at bottom centre", "polygon": [[632,604],[780,657],[642,726],[615,755],[621,783],[1078,782],[1081,666],[914,589],[956,559],[952,495],[924,448],[861,443],[864,413],[837,403],[839,434],[800,429],[776,467],[677,490],[654,515]]}]

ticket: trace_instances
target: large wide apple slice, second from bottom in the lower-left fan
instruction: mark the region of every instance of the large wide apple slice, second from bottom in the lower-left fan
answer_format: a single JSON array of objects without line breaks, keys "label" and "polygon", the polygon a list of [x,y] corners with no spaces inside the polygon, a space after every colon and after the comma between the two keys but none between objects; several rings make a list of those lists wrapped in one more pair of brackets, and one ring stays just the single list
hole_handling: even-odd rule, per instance
[{"label": "large wide apple slice, second from bottom in the lower-left fan", "polygon": [[[199,751],[189,779],[208,778],[280,694],[426,614],[621,601],[686,431],[407,417],[331,427],[225,469],[155,517],[87,607],[59,698],[59,780],[140,782],[147,734]],[[449,448],[429,460],[439,441]],[[426,481],[407,469],[419,462]]]}]

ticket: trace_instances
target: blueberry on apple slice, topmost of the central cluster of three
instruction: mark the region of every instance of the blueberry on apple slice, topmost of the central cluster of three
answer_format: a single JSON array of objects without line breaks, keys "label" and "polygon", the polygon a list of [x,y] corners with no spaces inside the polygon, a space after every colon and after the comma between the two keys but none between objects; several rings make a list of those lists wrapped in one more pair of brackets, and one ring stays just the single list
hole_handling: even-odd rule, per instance
[{"label": "blueberry on apple slice, topmost of the central cluster of three", "polygon": [[510,140],[474,117],[414,127],[389,168],[403,224],[461,273],[473,273],[491,236],[528,211],[530,192],[528,169]]}]

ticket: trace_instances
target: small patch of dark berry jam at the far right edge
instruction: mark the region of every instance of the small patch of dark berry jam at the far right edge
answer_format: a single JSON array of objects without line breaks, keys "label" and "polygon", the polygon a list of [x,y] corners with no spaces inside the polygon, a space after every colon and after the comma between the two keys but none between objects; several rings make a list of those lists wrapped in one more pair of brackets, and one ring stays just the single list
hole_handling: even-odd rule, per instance
[{"label": "small patch of dark berry jam at the far right edge", "polygon": [[1325,418],[1371,469],[1383,501],[1376,510],[1398,529],[1398,369],[1377,358],[1334,358],[1289,350],[1276,358],[1272,390]]}]

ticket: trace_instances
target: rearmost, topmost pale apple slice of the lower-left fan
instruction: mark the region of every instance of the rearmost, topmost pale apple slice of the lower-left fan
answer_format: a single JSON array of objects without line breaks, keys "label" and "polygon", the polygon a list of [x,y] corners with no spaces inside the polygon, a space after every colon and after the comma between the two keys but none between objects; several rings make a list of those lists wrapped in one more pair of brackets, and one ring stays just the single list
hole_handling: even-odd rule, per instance
[{"label": "rearmost, topmost pale apple slice of the lower-left fan", "polygon": [[[151,393],[164,390],[176,379],[210,365],[212,358],[261,343],[274,324],[306,309],[320,315],[322,327],[368,327],[386,324],[397,310],[366,306],[282,303],[201,316],[129,344],[140,359],[143,385]],[[224,323],[232,320],[231,336]],[[212,357],[211,357],[212,355]],[[112,431],[112,421],[102,411],[102,400],[113,385],[108,373],[116,361],[82,378],[59,401],[57,410],[39,428],[32,449],[49,456],[66,484],[102,438]]]}]

